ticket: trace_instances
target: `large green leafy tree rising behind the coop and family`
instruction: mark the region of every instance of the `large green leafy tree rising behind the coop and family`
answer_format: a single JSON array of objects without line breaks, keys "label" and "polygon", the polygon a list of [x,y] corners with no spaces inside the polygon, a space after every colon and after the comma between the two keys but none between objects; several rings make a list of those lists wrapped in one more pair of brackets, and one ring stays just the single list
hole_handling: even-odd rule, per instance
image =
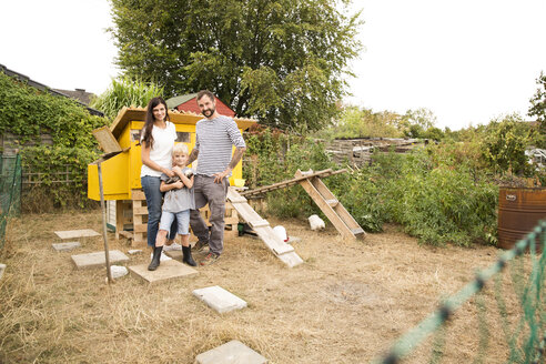
[{"label": "large green leafy tree rising behind the coop and family", "polygon": [[350,0],[112,0],[118,64],[165,95],[210,89],[240,117],[318,129],[346,94]]}]

